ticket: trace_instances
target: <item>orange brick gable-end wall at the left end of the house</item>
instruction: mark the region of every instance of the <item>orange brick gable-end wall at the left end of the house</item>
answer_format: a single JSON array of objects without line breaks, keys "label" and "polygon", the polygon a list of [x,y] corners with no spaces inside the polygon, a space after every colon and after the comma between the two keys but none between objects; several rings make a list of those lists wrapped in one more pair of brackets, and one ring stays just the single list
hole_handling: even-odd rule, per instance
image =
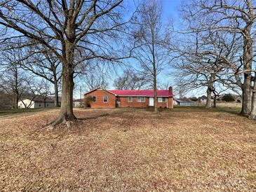
[{"label": "orange brick gable-end wall at the left end of the house", "polygon": [[[90,102],[91,108],[114,108],[116,107],[116,96],[106,90],[94,90],[93,92],[89,92],[88,94],[84,95],[85,97],[93,97],[97,98],[96,102]],[[107,96],[108,101],[103,102],[103,97]]]}]

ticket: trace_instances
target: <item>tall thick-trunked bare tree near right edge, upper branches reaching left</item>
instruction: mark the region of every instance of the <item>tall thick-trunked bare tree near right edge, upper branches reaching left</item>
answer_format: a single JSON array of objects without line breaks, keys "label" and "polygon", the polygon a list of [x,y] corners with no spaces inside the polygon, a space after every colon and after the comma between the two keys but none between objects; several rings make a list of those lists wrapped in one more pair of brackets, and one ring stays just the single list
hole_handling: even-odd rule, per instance
[{"label": "tall thick-trunked bare tree near right edge, upper branches reaching left", "polygon": [[[253,59],[253,36],[255,35],[256,19],[255,1],[231,1],[231,0],[198,0],[184,6],[185,18],[193,29],[200,26],[200,31],[228,32],[241,37],[241,48],[238,50],[238,60],[235,62],[222,55],[230,66],[233,65],[233,72],[236,84],[243,91],[243,105],[241,114],[248,115],[252,104],[252,59]],[[243,74],[239,76],[238,71]]]}]

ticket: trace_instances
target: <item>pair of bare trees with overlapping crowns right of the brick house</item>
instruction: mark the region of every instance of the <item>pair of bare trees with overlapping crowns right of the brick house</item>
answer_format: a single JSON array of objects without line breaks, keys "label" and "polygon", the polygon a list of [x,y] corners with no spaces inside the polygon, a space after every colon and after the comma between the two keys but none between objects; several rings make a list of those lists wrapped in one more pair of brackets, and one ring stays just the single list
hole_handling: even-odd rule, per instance
[{"label": "pair of bare trees with overlapping crowns right of the brick house", "polygon": [[[256,118],[255,1],[191,1],[182,5],[186,27],[175,46],[176,81],[207,88],[210,97],[233,90],[241,114]],[[181,30],[180,30],[181,31]]]}]

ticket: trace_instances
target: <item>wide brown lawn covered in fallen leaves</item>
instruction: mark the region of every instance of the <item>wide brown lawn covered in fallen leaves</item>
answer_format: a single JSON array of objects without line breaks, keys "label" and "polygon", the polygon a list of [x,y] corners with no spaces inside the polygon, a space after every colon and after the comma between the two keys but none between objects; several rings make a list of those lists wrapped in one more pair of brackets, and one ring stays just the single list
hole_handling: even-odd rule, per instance
[{"label": "wide brown lawn covered in fallen leaves", "polygon": [[238,109],[58,109],[0,117],[0,191],[255,191],[256,122]]}]

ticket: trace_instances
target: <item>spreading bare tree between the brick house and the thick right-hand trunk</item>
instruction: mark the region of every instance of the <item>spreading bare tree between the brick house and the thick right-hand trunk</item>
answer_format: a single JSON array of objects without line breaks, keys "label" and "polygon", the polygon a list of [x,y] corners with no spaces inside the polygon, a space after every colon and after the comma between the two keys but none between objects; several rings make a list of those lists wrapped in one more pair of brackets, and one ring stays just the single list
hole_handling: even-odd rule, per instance
[{"label": "spreading bare tree between the brick house and the thick right-hand trunk", "polygon": [[[234,41],[227,40],[229,34],[222,32],[198,32],[191,34],[191,40],[177,48],[178,57],[173,67],[176,81],[189,89],[207,88],[206,107],[210,108],[215,83],[222,81],[229,72],[229,65],[222,55],[232,58],[236,49]],[[224,82],[224,81],[222,81]],[[224,84],[224,83],[223,83]],[[224,85],[228,85],[225,83]],[[229,85],[231,88],[231,86]]]}]

